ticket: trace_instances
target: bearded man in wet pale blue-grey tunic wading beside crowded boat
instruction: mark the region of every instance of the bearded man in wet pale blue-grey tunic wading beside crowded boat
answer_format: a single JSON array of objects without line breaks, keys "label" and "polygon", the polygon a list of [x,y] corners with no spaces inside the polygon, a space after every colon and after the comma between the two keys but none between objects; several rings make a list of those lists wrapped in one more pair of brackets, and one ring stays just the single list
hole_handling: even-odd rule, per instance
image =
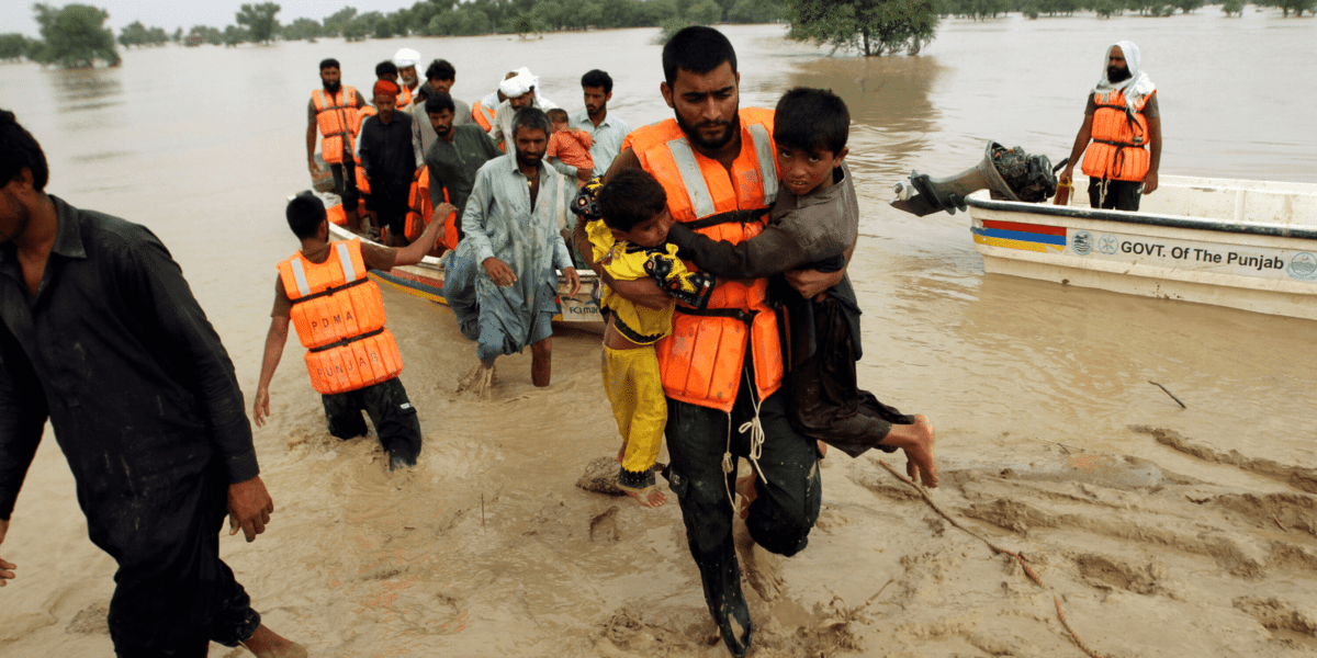
[{"label": "bearded man in wet pale blue-grey tunic wading beside crowded boat", "polygon": [[482,397],[493,384],[494,359],[527,345],[531,382],[549,386],[552,320],[558,313],[554,268],[566,279],[568,296],[581,288],[558,233],[576,200],[576,183],[544,164],[549,118],[537,108],[523,108],[508,134],[512,153],[475,174],[462,215],[465,237],[444,257],[444,297],[462,334],[475,341],[479,359],[458,392],[474,390]]}]

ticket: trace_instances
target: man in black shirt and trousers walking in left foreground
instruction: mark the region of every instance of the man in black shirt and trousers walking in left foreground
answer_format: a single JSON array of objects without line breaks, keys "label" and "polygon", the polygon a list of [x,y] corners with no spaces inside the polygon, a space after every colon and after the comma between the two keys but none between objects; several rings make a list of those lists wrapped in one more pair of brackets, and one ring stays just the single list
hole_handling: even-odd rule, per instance
[{"label": "man in black shirt and trousers walking in left foreground", "polygon": [[[47,178],[0,112],[0,542],[49,417],[87,533],[119,563],[121,658],[203,657],[212,640],[307,655],[220,559],[225,511],[248,541],[274,511],[220,337],[150,230],[47,195]],[[0,586],[13,569],[0,559]]]}]

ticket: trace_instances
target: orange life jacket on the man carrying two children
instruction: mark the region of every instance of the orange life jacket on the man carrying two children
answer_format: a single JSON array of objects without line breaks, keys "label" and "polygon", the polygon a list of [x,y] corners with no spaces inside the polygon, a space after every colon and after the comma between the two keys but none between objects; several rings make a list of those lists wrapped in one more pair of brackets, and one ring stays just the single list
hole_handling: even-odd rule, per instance
[{"label": "orange life jacket on the man carrying two children", "polygon": [[[731,175],[691,149],[672,118],[632,132],[622,147],[631,147],[640,166],[662,183],[674,220],[736,243],[763,233],[768,207],[777,199],[773,111],[741,109],[740,128],[741,150]],[[782,386],[777,315],[766,297],[768,280],[755,279],[723,283],[706,311],[677,304],[672,334],[656,345],[668,397],[730,412],[743,383],[747,341],[755,350],[759,399]]]}]

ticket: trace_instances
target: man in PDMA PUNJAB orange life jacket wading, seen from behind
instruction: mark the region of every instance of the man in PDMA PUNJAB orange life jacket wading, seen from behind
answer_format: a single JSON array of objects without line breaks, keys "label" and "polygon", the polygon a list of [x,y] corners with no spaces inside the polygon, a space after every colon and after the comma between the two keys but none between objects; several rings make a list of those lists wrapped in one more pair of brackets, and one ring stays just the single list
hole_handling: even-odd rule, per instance
[{"label": "man in PDMA PUNJAB orange life jacket wading, seen from behind", "polygon": [[[439,211],[446,213],[452,207],[445,204]],[[287,217],[302,250],[279,263],[252,418],[262,426],[270,416],[270,380],[279,367],[291,318],[308,350],[307,371],[321,395],[329,433],[342,440],[363,436],[365,409],[389,453],[390,470],[415,465],[420,421],[398,379],[403,362],[394,336],[385,328],[379,287],[366,278],[366,271],[419,263],[433,246],[439,224],[407,247],[390,249],[362,245],[356,238],[329,242],[324,204],[307,192],[288,201]]]}]

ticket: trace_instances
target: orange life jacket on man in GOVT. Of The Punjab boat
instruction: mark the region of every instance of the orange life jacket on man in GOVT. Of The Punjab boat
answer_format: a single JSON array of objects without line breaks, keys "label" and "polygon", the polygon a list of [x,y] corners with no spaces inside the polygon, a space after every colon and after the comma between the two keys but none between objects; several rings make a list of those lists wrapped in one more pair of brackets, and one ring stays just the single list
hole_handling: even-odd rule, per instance
[{"label": "orange life jacket on man in GOVT. Of The Punjab boat", "polygon": [[[1156,93],[1156,92],[1152,92]],[[1142,182],[1148,172],[1148,120],[1143,116],[1152,93],[1129,111],[1119,89],[1094,93],[1093,143],[1084,153],[1083,171],[1090,178]]]}]

